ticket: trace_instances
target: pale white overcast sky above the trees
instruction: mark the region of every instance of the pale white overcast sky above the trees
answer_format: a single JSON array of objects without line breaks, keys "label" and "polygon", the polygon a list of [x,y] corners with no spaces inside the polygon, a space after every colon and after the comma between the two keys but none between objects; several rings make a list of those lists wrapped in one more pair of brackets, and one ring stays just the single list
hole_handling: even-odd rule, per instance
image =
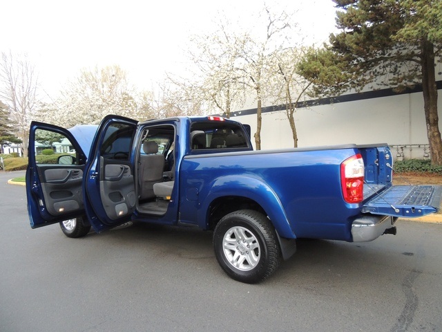
[{"label": "pale white overcast sky above the trees", "polygon": [[[332,0],[268,0],[296,21],[307,40],[322,44],[334,30]],[[152,89],[164,73],[184,67],[192,35],[229,17],[238,28],[262,8],[257,0],[14,0],[1,4],[0,51],[27,53],[41,87],[57,93],[81,68],[117,64],[140,89]]]}]

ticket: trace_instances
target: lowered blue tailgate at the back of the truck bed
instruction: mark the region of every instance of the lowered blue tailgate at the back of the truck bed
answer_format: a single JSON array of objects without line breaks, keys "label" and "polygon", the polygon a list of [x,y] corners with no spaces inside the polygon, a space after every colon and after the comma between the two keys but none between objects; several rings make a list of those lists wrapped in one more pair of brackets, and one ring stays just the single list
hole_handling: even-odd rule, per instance
[{"label": "lowered blue tailgate at the back of the truck bed", "polygon": [[395,185],[374,195],[362,212],[414,218],[439,211],[441,199],[439,185]]}]

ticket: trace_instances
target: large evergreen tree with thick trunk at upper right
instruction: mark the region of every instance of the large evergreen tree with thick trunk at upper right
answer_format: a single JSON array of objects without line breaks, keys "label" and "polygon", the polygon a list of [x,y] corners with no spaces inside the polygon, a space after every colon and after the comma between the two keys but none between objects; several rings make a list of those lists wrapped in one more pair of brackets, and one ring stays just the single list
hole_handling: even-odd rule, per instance
[{"label": "large evergreen tree with thick trunk at upper right", "polygon": [[300,73],[318,94],[333,95],[375,82],[423,89],[427,137],[434,165],[442,165],[434,67],[442,53],[441,0],[334,0],[343,32],[309,53]]}]

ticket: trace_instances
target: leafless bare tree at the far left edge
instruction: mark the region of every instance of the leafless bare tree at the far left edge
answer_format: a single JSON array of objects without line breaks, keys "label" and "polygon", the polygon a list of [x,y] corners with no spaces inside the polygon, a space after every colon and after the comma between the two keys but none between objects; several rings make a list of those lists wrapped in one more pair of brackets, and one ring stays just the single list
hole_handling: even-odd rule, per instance
[{"label": "leafless bare tree at the far left edge", "polygon": [[35,66],[25,55],[1,53],[0,98],[8,104],[10,118],[22,141],[23,156],[28,156],[29,127],[38,106],[39,80]]}]

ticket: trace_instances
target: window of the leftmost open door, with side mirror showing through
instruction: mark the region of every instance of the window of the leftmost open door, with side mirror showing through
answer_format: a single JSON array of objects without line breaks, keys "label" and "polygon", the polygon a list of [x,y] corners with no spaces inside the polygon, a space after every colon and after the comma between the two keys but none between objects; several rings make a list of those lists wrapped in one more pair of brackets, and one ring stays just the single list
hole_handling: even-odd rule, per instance
[{"label": "window of the leftmost open door, with side mirror showing through", "polygon": [[46,129],[35,131],[35,160],[38,164],[76,165],[72,142],[61,133]]}]

